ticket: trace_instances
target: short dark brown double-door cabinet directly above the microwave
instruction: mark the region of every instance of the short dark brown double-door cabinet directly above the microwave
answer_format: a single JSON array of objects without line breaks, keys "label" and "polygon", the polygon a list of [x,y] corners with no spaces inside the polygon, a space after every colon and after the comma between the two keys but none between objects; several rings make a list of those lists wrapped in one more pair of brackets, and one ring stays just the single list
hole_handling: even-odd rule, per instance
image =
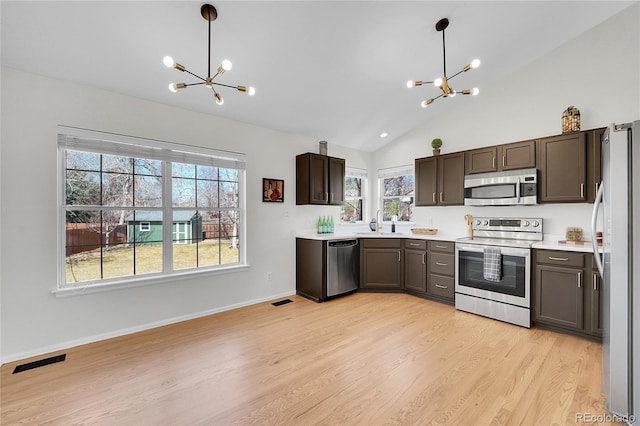
[{"label": "short dark brown double-door cabinet directly above the microwave", "polygon": [[536,167],[536,141],[514,142],[465,152],[465,174]]}]

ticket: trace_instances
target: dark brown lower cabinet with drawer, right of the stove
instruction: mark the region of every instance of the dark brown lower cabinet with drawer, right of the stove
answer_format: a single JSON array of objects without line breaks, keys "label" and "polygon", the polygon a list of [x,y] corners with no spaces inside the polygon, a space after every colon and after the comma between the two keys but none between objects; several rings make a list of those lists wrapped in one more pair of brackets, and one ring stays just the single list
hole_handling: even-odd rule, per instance
[{"label": "dark brown lower cabinet with drawer, right of the stove", "polygon": [[535,250],[534,322],[592,338],[602,337],[599,277],[591,254]]}]

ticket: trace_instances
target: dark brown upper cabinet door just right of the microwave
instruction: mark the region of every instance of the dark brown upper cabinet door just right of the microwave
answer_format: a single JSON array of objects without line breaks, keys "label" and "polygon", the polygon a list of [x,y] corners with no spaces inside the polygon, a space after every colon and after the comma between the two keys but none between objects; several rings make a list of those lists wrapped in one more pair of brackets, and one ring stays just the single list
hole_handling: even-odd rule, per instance
[{"label": "dark brown upper cabinet door just right of the microwave", "polygon": [[540,202],[586,201],[584,133],[541,139]]}]

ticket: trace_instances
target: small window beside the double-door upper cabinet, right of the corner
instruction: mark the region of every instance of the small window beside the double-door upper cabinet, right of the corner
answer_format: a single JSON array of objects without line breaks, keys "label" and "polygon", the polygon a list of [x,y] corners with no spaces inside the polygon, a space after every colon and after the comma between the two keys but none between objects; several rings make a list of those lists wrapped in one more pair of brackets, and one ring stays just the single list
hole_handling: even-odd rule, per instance
[{"label": "small window beside the double-door upper cabinet, right of the corner", "polygon": [[414,208],[413,166],[392,167],[378,170],[379,205],[382,221],[411,222]]}]

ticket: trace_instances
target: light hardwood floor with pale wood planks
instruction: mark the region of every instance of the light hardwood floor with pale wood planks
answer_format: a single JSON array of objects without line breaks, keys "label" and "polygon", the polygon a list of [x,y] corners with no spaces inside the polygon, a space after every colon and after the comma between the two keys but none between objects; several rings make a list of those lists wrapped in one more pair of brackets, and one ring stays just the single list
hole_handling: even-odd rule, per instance
[{"label": "light hardwood floor with pale wood planks", "polygon": [[405,294],[291,299],[61,351],[66,361],[18,374],[30,360],[6,364],[1,423],[564,425],[604,414],[597,343]]}]

